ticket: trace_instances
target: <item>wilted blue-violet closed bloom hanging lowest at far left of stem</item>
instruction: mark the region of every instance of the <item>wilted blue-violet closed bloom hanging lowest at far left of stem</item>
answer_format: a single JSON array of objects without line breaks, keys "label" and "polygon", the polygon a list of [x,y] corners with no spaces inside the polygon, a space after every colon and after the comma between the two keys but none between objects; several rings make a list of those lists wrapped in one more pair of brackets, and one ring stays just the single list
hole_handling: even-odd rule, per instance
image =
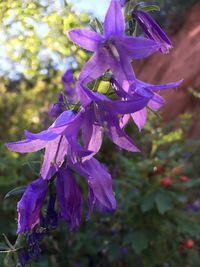
[{"label": "wilted blue-violet closed bloom hanging lowest at far left of stem", "polygon": [[40,210],[48,189],[48,182],[39,177],[29,184],[17,204],[18,230],[21,234],[31,231],[40,222]]}]

